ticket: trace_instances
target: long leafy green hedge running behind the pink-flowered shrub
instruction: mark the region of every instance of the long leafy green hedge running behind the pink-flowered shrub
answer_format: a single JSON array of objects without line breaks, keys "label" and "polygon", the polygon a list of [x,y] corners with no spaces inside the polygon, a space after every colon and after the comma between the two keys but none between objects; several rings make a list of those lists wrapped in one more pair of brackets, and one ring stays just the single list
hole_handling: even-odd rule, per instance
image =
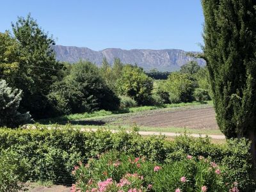
[{"label": "long leafy green hedge running behind the pink-flowered shrub", "polygon": [[145,138],[138,132],[127,134],[120,131],[112,134],[104,129],[81,132],[57,125],[51,130],[39,125],[36,129],[0,129],[0,151],[14,151],[20,159],[28,159],[26,179],[52,180],[64,184],[74,183],[71,172],[77,162],[86,163],[89,158],[97,157],[102,152],[118,150],[134,156],[145,156],[158,163],[179,161],[188,154],[209,157],[225,167],[230,182],[237,180],[239,187],[246,189],[252,184],[249,148],[250,143],[244,139],[216,145],[209,138],[192,138],[188,135],[168,141],[164,136]]}]

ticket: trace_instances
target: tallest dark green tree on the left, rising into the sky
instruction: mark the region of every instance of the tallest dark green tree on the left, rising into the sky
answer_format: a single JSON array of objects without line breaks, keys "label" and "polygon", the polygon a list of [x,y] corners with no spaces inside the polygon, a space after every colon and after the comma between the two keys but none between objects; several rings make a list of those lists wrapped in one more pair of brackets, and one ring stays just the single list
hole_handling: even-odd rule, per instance
[{"label": "tallest dark green tree on the left, rising into the sky", "polygon": [[19,69],[12,77],[10,85],[21,89],[24,97],[20,102],[22,111],[30,111],[35,118],[47,116],[49,102],[46,95],[51,84],[61,79],[60,70],[63,65],[55,58],[49,37],[36,23],[28,17],[18,17],[12,24],[13,34],[19,42]]}]

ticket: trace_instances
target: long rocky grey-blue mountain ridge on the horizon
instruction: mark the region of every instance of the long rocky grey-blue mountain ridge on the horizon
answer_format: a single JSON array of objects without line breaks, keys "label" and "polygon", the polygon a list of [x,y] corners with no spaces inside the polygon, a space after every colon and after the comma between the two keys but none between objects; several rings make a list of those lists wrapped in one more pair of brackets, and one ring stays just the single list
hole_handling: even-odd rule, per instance
[{"label": "long rocky grey-blue mountain ridge on the horizon", "polygon": [[[117,49],[108,48],[102,51],[93,51],[87,47],[73,47],[54,45],[56,58],[60,61],[68,61],[74,63],[80,58],[82,60],[92,61],[97,65],[101,65],[102,58],[105,56],[109,63],[113,63],[115,58],[120,58],[122,63],[137,64],[145,70],[157,68],[159,71],[173,71],[178,70],[182,65],[188,61],[195,60],[186,55],[186,51],[180,49]],[[199,65],[205,65],[205,61],[196,59]]]}]

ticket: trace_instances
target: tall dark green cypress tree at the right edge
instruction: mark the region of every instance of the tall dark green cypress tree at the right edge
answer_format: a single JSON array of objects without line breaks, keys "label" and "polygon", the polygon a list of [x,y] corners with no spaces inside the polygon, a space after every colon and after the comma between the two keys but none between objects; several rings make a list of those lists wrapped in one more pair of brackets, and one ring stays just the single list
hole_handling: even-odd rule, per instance
[{"label": "tall dark green cypress tree at the right edge", "polygon": [[256,159],[256,1],[202,0],[204,57],[216,119],[227,138],[249,138]]}]

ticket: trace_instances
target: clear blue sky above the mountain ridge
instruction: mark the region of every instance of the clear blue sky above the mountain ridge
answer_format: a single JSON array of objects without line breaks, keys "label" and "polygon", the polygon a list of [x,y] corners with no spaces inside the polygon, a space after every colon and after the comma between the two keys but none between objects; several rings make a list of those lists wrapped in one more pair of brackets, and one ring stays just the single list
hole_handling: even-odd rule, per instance
[{"label": "clear blue sky above the mountain ridge", "polygon": [[28,13],[60,45],[200,51],[200,0],[2,1],[0,31]]}]

